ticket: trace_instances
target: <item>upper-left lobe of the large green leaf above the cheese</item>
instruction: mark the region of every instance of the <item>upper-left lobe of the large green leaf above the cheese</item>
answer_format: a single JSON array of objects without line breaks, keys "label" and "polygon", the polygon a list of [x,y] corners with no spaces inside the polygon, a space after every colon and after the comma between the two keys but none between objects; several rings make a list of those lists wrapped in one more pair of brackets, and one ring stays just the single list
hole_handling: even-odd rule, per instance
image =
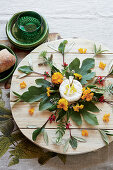
[{"label": "upper-left lobe of the large green leaf above the cheese", "polygon": [[78,58],[75,58],[70,64],[69,64],[69,69],[72,71],[74,70],[75,73],[79,71],[79,66],[80,66],[80,60]]}]

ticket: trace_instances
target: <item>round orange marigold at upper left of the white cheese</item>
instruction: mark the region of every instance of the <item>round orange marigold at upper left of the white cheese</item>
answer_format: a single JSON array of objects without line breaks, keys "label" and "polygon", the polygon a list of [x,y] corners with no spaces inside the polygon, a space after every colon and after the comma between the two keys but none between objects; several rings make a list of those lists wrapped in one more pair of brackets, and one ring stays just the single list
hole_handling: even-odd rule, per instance
[{"label": "round orange marigold at upper left of the white cheese", "polygon": [[52,75],[52,82],[54,84],[61,84],[63,82],[63,75],[59,72],[56,72]]}]

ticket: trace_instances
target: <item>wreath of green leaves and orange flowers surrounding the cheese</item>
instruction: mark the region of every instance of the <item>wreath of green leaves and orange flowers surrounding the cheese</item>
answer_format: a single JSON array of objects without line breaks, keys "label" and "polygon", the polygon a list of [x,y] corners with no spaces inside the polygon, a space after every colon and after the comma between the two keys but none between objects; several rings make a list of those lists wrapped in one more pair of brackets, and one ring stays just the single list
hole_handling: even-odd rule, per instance
[{"label": "wreath of green leaves and orange flowers surrounding the cheese", "polygon": [[[45,122],[45,124],[41,128],[37,128],[33,134],[32,139],[35,141],[39,134],[43,134],[44,140],[46,144],[48,144],[48,135],[45,130],[45,126],[48,122],[52,123],[55,121],[57,123],[56,129],[56,144],[60,144],[63,140],[63,136],[66,130],[69,130],[69,138],[64,143],[64,152],[67,151],[69,144],[72,148],[77,148],[78,142],[86,142],[85,139],[72,136],[71,134],[71,123],[70,119],[72,119],[78,126],[82,124],[82,120],[92,126],[98,125],[98,120],[96,117],[96,112],[99,112],[99,108],[96,106],[98,102],[106,102],[111,104],[110,102],[104,99],[104,92],[109,91],[111,94],[113,93],[113,86],[110,85],[109,87],[103,87],[103,83],[109,75],[113,74],[111,70],[106,77],[99,76],[93,84],[88,84],[89,80],[92,80],[95,77],[95,72],[92,72],[92,68],[95,67],[95,59],[94,57],[98,54],[104,52],[101,50],[101,46],[97,49],[96,45],[94,44],[94,57],[93,58],[86,58],[85,60],[80,63],[79,58],[75,58],[69,65],[65,63],[65,47],[67,45],[67,40],[64,40],[59,44],[58,50],[54,49],[55,51],[59,52],[63,56],[63,65],[62,70],[59,70],[53,64],[52,58],[53,55],[51,54],[50,57],[46,57],[47,52],[43,51],[40,54],[40,57],[43,58],[44,62],[39,63],[39,66],[47,65],[51,69],[51,75],[48,72],[37,73],[33,71],[33,67],[29,66],[22,66],[19,67],[18,70],[22,73],[25,73],[24,76],[29,75],[31,73],[39,74],[40,76],[44,76],[44,79],[38,78],[35,80],[37,86],[31,86],[28,88],[28,91],[24,92],[22,95],[13,92],[17,96],[18,101],[24,101],[28,103],[40,102],[39,104],[39,111],[49,110],[51,115]],[[72,44],[71,44],[72,45]],[[86,49],[79,49],[80,53],[86,53]],[[80,67],[81,64],[81,67]],[[51,81],[46,80],[46,78],[51,79]],[[73,80],[77,80],[81,83],[82,95],[81,97],[73,102],[69,102],[66,98],[61,97],[59,88],[62,82],[65,79],[70,79],[73,77]],[[70,94],[76,95],[77,89],[73,85],[72,82],[65,87],[65,94],[67,94],[68,90],[70,90]],[[98,87],[98,84],[102,85],[102,87]],[[108,117],[107,117],[108,118]],[[105,131],[102,129],[98,129],[102,135],[103,140],[108,144],[108,135],[112,135],[109,131]],[[83,136],[87,136],[87,131],[82,132]]]}]

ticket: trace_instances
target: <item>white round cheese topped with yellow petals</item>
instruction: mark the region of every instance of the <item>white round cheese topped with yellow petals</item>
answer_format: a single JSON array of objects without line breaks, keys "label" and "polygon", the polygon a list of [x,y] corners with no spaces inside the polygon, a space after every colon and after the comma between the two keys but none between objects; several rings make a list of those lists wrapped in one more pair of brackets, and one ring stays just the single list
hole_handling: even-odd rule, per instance
[{"label": "white round cheese topped with yellow petals", "polygon": [[70,76],[69,79],[61,83],[59,92],[61,97],[65,98],[68,102],[78,101],[82,95],[82,85]]}]

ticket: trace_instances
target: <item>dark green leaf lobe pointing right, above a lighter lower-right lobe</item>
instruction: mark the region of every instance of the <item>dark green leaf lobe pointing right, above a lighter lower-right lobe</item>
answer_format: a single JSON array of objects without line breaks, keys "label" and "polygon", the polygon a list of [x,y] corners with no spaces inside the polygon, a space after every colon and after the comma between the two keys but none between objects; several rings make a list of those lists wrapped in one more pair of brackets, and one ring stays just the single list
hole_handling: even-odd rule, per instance
[{"label": "dark green leaf lobe pointing right, above a lighter lower-right lobe", "polygon": [[100,110],[93,102],[83,102],[84,110],[91,112],[99,112]]}]

